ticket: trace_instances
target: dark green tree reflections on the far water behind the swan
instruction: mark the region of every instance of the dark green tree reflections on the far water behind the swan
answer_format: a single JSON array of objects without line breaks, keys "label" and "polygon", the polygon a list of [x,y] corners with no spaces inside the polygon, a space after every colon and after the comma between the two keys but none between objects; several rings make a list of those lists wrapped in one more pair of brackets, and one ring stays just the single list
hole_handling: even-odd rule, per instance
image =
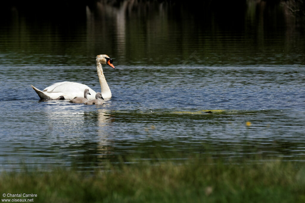
[{"label": "dark green tree reflections on the far water behind the swan", "polygon": [[164,66],[181,65],[196,52],[188,64],[304,65],[302,21],[280,3],[243,3],[230,2],[221,12],[212,3],[210,10],[195,12],[200,8],[183,2],[96,2],[81,10],[77,23],[69,16],[46,23],[43,13],[37,13],[41,20],[33,19],[17,6],[12,18],[0,21],[0,54],[10,59],[0,60],[91,65],[97,54],[108,54],[119,65]]}]

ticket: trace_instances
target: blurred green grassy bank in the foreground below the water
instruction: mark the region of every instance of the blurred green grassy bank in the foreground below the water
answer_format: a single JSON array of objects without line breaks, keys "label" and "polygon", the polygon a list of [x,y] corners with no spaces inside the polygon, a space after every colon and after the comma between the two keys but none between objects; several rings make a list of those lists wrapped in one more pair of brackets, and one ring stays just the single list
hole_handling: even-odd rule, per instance
[{"label": "blurred green grassy bank in the foreground below the water", "polygon": [[34,202],[305,202],[304,166],[198,159],[109,165],[94,173],[2,173],[0,190],[37,194]]}]

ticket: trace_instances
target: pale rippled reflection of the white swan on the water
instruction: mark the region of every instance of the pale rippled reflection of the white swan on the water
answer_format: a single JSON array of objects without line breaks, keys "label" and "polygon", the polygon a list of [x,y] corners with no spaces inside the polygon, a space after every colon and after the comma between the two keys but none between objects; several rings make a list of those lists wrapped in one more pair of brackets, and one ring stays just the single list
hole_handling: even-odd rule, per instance
[{"label": "pale rippled reflection of the white swan on the water", "polygon": [[56,149],[56,156],[64,156],[67,163],[77,167],[86,167],[86,164],[102,167],[112,152],[109,141],[112,120],[107,108],[110,101],[106,100],[103,105],[54,100],[40,104],[45,113],[42,119],[48,132],[46,139],[51,149]]}]

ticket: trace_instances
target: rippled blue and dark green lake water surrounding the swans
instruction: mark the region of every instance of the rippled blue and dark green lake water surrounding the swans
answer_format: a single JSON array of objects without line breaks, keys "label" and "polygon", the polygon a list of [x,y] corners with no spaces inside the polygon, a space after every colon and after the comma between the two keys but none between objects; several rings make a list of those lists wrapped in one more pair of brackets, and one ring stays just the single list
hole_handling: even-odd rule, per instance
[{"label": "rippled blue and dark green lake water surrounding the swans", "polygon": [[[2,14],[1,170],[197,154],[305,161],[303,22],[265,2],[227,17],[126,2]],[[99,91],[98,54],[116,67],[103,66],[113,95],[103,105],[40,101],[30,86]]]}]

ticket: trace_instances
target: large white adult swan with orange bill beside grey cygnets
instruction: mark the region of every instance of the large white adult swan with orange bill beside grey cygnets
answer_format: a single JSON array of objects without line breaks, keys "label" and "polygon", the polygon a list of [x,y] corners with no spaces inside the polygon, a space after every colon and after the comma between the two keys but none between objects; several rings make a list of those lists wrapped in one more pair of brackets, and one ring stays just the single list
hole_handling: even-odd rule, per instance
[{"label": "large white adult swan with orange bill beside grey cygnets", "polygon": [[[112,65],[112,59],[109,58],[106,54],[97,55],[96,56],[96,71],[97,75],[99,76],[99,83],[101,85],[101,93],[103,94],[103,97],[105,99],[111,98],[111,91],[109,89],[109,86],[106,82],[102,64],[107,64],[114,68]],[[77,82],[56,82],[51,86],[46,87],[43,91],[37,89],[33,85],[31,85],[32,88],[36,91],[40,99],[43,100],[51,100],[56,99],[59,96],[64,96],[66,100],[72,100],[74,97],[82,97],[84,94],[84,89],[89,89],[91,95],[88,96],[88,99],[94,99],[94,95],[96,92],[88,87],[87,85],[77,83]]]}]

